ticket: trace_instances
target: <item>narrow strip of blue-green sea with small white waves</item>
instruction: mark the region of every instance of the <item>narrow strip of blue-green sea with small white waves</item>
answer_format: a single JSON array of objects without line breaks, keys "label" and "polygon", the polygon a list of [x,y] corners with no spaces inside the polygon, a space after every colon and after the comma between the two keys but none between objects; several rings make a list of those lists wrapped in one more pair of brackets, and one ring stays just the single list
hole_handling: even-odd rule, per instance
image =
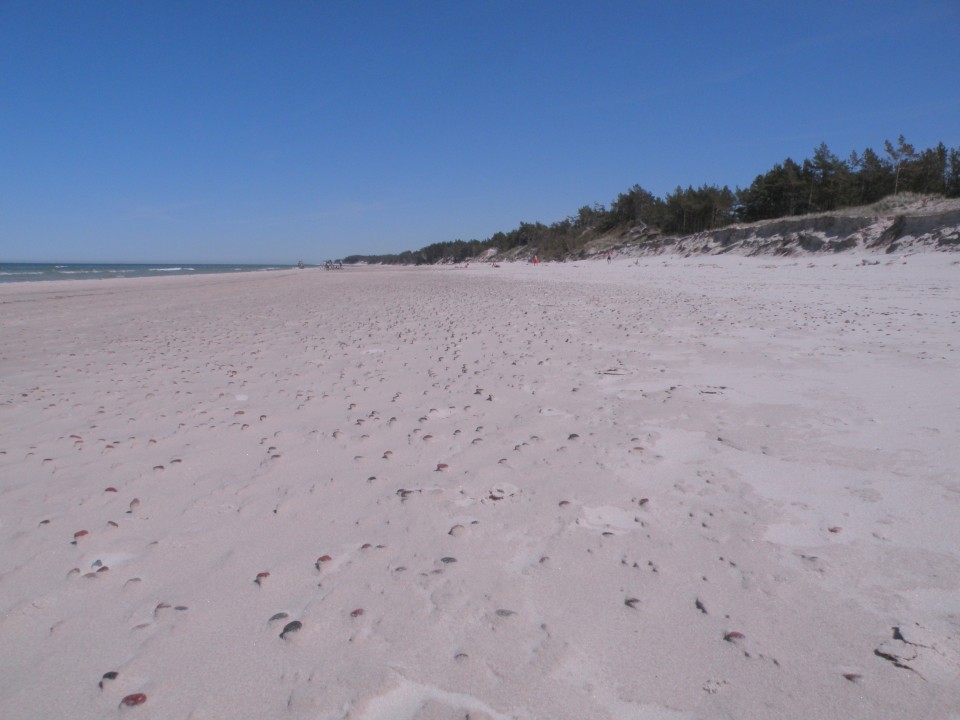
[{"label": "narrow strip of blue-green sea with small white waves", "polygon": [[209,265],[197,263],[0,263],[0,283],[31,280],[105,280],[122,277],[209,275],[214,273],[289,270],[295,265]]}]

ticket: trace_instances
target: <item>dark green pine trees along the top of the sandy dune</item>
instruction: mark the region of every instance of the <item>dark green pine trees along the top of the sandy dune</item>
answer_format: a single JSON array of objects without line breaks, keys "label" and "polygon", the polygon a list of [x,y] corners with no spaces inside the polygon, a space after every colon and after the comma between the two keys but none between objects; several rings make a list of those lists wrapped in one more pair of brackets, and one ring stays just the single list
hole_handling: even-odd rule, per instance
[{"label": "dark green pine trees along the top of the sandy dune", "polygon": [[351,255],[343,261],[457,263],[491,250],[504,253],[524,247],[535,248],[542,259],[562,259],[603,236],[689,235],[738,222],[869,205],[901,192],[960,197],[960,148],[939,143],[918,152],[901,135],[896,143],[884,143],[883,156],[867,148],[842,160],[821,143],[812,158],[802,163],[786,158],[757,175],[747,188],[677,186],[660,198],[634,185],[609,207],[584,205],[551,225],[521,222],[486,240],[452,240],[396,255]]}]

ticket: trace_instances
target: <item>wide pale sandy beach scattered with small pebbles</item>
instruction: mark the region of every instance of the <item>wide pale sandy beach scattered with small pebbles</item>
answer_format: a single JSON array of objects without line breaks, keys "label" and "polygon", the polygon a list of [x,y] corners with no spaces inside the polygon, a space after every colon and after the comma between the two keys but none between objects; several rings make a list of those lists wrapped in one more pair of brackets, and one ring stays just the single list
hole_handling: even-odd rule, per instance
[{"label": "wide pale sandy beach scattered with small pebbles", "polygon": [[958,259],[0,286],[0,717],[958,718]]}]

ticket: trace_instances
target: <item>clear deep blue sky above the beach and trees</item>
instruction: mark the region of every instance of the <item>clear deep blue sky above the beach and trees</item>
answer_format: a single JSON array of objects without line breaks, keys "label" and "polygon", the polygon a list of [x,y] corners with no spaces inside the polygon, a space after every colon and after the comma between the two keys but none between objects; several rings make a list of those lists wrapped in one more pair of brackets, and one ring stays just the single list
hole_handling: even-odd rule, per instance
[{"label": "clear deep blue sky above the beach and trees", "polygon": [[960,147],[960,0],[0,0],[0,261],[322,262]]}]

